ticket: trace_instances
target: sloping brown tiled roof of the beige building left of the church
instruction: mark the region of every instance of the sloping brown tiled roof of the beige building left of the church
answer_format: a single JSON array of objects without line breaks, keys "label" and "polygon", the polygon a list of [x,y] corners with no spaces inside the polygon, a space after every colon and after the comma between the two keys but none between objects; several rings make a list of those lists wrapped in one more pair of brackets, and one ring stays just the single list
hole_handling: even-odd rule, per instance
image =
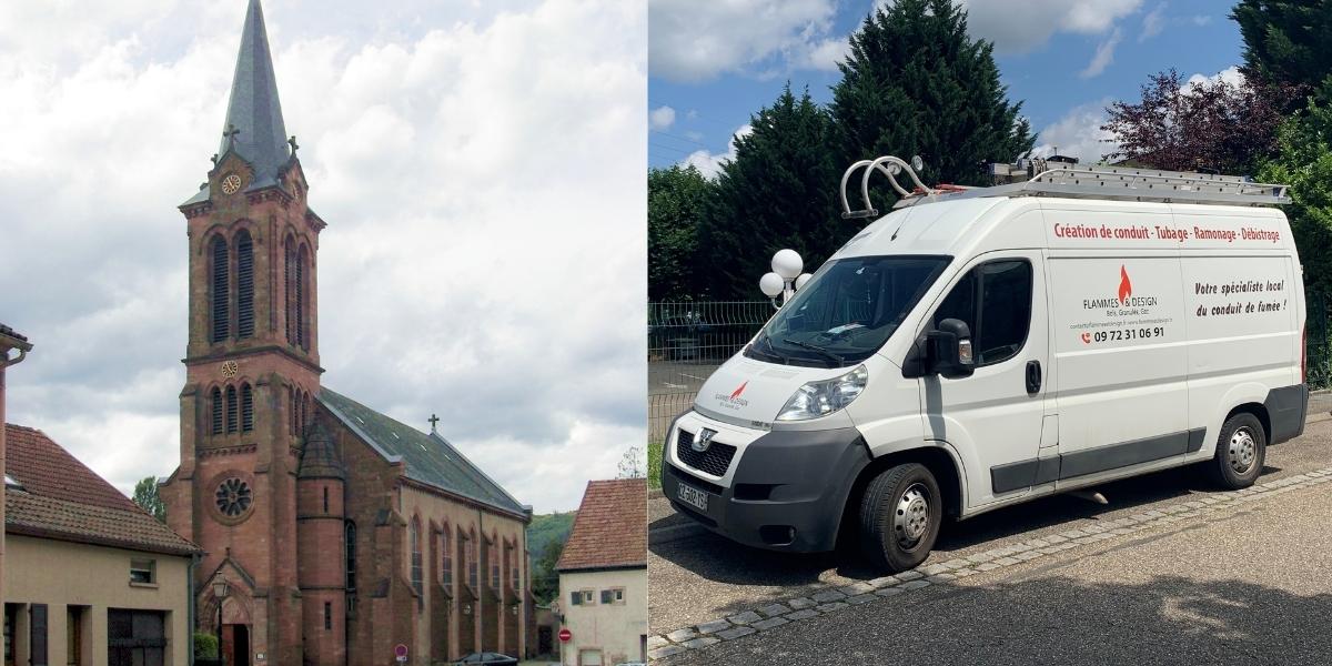
[{"label": "sloping brown tiled roof of the beige building left of the church", "polygon": [[5,424],[5,531],[151,553],[198,547],[157,522],[41,430]]}]

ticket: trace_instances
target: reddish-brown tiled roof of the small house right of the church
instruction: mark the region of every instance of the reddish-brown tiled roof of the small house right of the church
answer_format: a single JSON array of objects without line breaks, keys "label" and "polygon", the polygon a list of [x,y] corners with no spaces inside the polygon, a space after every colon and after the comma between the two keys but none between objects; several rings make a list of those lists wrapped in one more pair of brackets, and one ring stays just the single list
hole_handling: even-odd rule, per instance
[{"label": "reddish-brown tiled roof of the small house right of the church", "polygon": [[589,481],[557,571],[647,566],[647,480]]}]

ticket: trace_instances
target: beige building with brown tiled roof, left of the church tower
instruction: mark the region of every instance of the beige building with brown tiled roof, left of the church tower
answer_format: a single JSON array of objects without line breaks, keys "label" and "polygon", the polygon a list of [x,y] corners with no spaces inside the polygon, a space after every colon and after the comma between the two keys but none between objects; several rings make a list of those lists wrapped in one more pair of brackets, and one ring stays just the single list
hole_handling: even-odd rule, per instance
[{"label": "beige building with brown tiled roof, left of the church tower", "polygon": [[198,549],[5,424],[4,665],[185,666]]}]

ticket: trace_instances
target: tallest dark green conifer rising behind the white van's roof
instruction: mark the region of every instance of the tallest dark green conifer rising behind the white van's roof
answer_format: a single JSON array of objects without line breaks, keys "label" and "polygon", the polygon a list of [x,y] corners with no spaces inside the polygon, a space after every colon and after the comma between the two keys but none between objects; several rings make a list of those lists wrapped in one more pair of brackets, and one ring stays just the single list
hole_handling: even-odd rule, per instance
[{"label": "tallest dark green conifer rising behind the white van's roof", "polygon": [[[994,45],[967,36],[952,0],[898,0],[851,35],[832,88],[840,169],[855,160],[919,155],[927,184],[986,182],[986,166],[1030,151],[1031,128],[999,83]],[[886,186],[875,200],[891,204]],[[887,198],[884,198],[887,197]]]}]

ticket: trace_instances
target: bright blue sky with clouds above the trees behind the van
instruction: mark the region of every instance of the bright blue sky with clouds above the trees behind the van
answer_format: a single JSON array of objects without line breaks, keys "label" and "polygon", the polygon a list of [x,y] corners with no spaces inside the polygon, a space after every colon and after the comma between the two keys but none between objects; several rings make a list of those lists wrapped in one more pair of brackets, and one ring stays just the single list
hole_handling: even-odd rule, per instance
[{"label": "bright blue sky with clouds above the trees behind the van", "polygon": [[[847,36],[883,0],[651,0],[649,161],[707,173],[790,80],[819,101],[840,79]],[[1104,108],[1147,76],[1235,77],[1243,44],[1215,0],[963,0],[974,37],[995,43],[1002,80],[1048,152],[1112,151]]]}]

